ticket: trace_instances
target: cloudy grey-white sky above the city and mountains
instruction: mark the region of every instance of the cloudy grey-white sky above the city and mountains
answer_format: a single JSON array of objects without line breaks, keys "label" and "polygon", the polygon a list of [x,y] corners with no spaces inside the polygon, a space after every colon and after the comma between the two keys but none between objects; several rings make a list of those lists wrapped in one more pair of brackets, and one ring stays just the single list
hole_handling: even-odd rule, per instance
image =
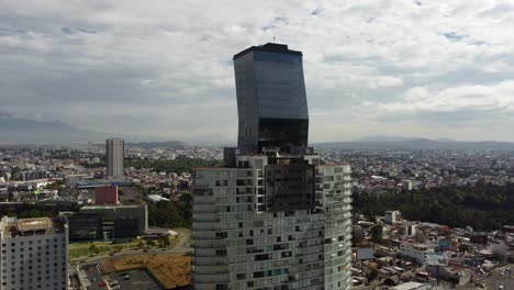
[{"label": "cloudy grey-white sky above the city and mountains", "polygon": [[0,0],[0,111],[235,140],[232,56],[302,51],[311,141],[514,141],[512,0]]}]

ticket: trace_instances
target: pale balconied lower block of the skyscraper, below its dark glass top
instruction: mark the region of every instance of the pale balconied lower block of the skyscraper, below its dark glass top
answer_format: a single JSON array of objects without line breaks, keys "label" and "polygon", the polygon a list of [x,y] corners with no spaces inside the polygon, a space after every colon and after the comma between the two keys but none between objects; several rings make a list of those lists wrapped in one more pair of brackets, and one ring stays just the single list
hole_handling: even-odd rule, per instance
[{"label": "pale balconied lower block of the skyscraper, below its dark glass top", "polygon": [[315,196],[299,199],[297,187],[309,183],[287,183],[291,168],[264,155],[236,164],[244,167],[195,171],[194,288],[350,289],[350,167],[306,166]]}]

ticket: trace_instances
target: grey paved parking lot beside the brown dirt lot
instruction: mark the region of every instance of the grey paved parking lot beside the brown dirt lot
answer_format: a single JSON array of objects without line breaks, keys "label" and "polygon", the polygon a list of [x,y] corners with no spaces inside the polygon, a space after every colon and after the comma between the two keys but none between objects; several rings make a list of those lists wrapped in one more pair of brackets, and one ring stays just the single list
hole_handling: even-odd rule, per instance
[{"label": "grey paved parking lot beside the brown dirt lot", "polygon": [[[127,290],[160,290],[161,288],[145,270],[115,272],[105,277],[110,285],[119,285],[119,289]],[[111,289],[115,289],[113,286]]]}]

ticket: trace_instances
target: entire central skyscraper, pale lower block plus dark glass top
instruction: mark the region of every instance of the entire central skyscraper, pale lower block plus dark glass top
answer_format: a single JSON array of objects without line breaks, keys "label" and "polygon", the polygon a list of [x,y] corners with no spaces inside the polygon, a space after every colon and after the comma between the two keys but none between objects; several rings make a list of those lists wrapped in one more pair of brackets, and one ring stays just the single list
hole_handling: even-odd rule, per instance
[{"label": "entire central skyscraper, pale lower block plus dark glass top", "polygon": [[351,170],[306,146],[302,54],[266,44],[234,65],[238,147],[194,172],[194,288],[349,289]]}]

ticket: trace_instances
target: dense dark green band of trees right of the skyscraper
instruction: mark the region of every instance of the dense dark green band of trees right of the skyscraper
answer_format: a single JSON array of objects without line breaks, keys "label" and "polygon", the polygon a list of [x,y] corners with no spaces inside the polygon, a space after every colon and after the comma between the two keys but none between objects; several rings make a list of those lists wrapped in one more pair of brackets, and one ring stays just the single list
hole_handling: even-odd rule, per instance
[{"label": "dense dark green band of trees right of the skyscraper", "polygon": [[354,191],[355,213],[366,216],[399,209],[411,221],[472,226],[478,231],[500,230],[514,220],[514,183],[495,186],[480,181],[469,187],[439,187],[409,192]]}]

